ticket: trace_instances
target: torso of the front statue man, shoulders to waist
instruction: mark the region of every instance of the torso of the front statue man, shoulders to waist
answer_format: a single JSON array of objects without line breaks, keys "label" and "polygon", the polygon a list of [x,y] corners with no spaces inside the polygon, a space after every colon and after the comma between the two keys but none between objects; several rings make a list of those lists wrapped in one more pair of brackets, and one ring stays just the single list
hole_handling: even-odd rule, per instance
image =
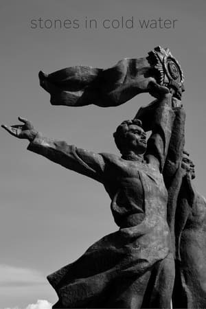
[{"label": "torso of the front statue man, shoulders to waist", "polygon": [[159,170],[146,162],[111,155],[104,155],[104,159],[108,168],[103,183],[111,197],[111,211],[119,227],[139,225],[150,212],[146,209],[146,199],[150,197],[154,200],[154,207],[158,204],[154,213],[165,218],[167,192]]}]

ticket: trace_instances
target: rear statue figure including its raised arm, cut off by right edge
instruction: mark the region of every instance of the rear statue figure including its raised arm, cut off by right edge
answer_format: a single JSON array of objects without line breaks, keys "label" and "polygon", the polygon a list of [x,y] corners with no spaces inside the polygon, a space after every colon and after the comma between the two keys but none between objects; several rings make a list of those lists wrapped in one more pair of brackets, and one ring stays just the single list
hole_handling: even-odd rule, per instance
[{"label": "rear statue figure including its raised arm, cut off by right edge", "polygon": [[176,106],[163,177],[176,264],[173,308],[206,308],[206,203],[192,184],[194,164],[185,145],[185,111]]}]

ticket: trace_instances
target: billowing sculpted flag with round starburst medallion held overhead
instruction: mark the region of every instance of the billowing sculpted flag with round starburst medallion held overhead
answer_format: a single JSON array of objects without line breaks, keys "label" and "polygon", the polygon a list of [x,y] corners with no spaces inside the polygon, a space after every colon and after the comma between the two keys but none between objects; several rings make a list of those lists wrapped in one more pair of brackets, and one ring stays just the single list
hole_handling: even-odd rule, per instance
[{"label": "billowing sculpted flag with round starburst medallion held overhead", "polygon": [[68,67],[49,75],[39,72],[41,87],[51,95],[52,105],[118,106],[139,93],[158,96],[165,86],[181,100],[183,72],[169,49],[156,47],[145,58],[124,58],[108,69]]}]

